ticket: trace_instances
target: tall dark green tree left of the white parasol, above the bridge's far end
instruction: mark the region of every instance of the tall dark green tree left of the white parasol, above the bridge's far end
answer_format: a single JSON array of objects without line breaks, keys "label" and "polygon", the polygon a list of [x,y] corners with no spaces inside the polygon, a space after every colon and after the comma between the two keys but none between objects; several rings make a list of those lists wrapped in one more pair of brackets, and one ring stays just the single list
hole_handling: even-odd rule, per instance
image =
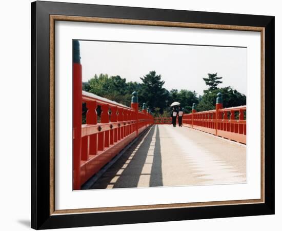
[{"label": "tall dark green tree left of the white parasol, above the bridge's far end", "polygon": [[163,88],[165,81],[161,80],[162,76],[156,75],[155,71],[150,71],[149,74],[140,78],[142,80],[139,93],[139,104],[146,103],[152,111],[154,108],[159,108],[159,112],[163,113],[167,106],[169,91]]}]

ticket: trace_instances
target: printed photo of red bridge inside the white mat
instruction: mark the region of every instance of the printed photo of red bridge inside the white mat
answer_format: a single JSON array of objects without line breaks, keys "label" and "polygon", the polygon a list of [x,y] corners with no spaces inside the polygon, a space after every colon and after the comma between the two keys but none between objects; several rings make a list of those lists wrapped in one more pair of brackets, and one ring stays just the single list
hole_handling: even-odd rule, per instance
[{"label": "printed photo of red bridge inside the white mat", "polygon": [[74,190],[247,183],[247,47],[72,45]]}]

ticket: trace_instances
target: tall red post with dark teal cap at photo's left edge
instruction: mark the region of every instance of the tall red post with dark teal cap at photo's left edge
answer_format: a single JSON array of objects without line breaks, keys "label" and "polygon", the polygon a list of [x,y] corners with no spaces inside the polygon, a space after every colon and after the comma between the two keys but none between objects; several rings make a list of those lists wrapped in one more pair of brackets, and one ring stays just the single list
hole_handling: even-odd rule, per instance
[{"label": "tall red post with dark teal cap at photo's left edge", "polygon": [[82,65],[79,42],[73,41],[73,189],[80,189],[82,135]]}]

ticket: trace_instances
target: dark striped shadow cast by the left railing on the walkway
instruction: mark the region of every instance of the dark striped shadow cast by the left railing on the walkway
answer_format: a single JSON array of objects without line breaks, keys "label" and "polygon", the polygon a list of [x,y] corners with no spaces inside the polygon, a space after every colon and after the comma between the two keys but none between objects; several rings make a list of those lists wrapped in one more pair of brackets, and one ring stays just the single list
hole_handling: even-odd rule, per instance
[{"label": "dark striped shadow cast by the left railing on the walkway", "polygon": [[[156,132],[155,132],[156,131]],[[155,133],[155,145],[152,141]],[[144,173],[147,157],[153,152],[153,162],[150,172]],[[145,167],[146,168],[146,167]],[[143,134],[116,163],[92,186],[91,189],[132,188],[137,187],[140,177],[149,176],[148,186],[163,186],[162,158],[160,155],[160,139],[157,126],[153,126]]]}]

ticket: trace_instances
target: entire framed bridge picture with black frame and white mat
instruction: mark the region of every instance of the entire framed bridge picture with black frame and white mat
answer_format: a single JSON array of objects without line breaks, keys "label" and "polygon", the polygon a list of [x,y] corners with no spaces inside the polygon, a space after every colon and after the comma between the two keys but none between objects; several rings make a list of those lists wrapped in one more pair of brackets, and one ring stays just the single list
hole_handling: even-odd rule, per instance
[{"label": "entire framed bridge picture with black frame and white mat", "polygon": [[34,229],[274,214],[274,16],[33,2]]}]

